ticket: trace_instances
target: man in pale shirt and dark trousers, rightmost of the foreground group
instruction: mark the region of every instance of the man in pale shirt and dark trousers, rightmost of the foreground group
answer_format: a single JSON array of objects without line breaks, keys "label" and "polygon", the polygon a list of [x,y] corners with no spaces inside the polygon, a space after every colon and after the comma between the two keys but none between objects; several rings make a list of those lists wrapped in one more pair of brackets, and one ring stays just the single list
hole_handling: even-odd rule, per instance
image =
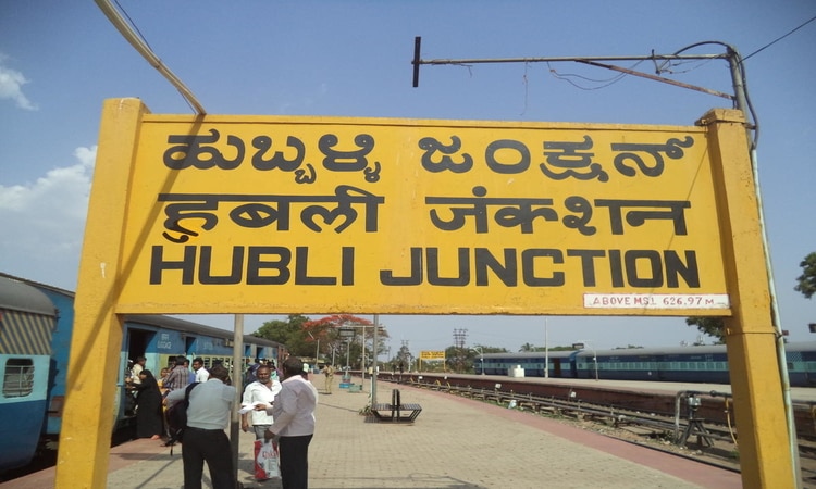
[{"label": "man in pale shirt and dark trousers, rightmost of the foreground group", "polygon": [[272,406],[258,405],[274,418],[263,438],[277,438],[283,489],[309,487],[309,442],[314,436],[318,389],[304,379],[304,362],[289,356],[283,362],[281,392]]}]

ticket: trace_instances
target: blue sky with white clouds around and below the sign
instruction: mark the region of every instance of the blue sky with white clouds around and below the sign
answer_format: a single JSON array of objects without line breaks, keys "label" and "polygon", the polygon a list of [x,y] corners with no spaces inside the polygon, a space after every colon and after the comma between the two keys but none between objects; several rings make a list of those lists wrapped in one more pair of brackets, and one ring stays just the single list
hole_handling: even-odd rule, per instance
[{"label": "blue sky with white clouds around and below the sign", "polygon": [[[573,63],[423,66],[423,59],[668,54],[722,41],[743,57],[816,15],[812,1],[172,1],[120,0],[209,113],[692,125],[725,99]],[[102,101],[137,97],[189,114],[181,95],[96,4],[0,2],[0,271],[76,288]],[[793,290],[816,251],[816,22],[745,61],[761,125],[759,174],[782,327],[812,337],[816,300]],[[690,53],[721,53],[703,46]],[[654,73],[651,62],[618,62]],[[724,61],[670,76],[731,92]],[[564,77],[568,77],[566,82]],[[574,85],[573,85],[574,84]],[[578,85],[578,86],[576,86]],[[319,317],[318,315],[311,315]],[[269,316],[247,316],[251,331]],[[543,317],[381,316],[391,346],[544,343]],[[231,316],[202,322],[230,328]],[[551,317],[551,346],[675,346],[682,318]]]}]

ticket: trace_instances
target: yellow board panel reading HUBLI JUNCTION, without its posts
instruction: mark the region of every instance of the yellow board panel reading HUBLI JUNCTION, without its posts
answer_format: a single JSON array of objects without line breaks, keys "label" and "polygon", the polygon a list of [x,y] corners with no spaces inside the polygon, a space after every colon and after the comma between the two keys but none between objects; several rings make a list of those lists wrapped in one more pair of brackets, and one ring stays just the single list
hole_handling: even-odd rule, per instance
[{"label": "yellow board panel reading HUBLI JUNCTION, without its posts", "polygon": [[120,313],[730,313],[704,127],[147,114],[127,158]]}]

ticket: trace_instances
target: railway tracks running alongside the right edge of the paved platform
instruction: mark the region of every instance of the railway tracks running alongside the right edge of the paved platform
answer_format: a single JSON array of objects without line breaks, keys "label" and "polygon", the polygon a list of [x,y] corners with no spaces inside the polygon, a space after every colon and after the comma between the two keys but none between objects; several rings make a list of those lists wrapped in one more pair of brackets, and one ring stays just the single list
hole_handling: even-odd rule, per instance
[{"label": "railway tracks running alongside the right edge of the paved platform", "polygon": [[[397,381],[387,376],[379,378]],[[478,380],[466,383],[423,375],[407,376],[403,384],[557,418],[630,443],[740,472],[730,394],[716,391],[680,391],[675,396],[633,393],[585,385],[558,386],[558,392],[542,393],[542,385],[524,384],[520,388],[512,381]],[[651,398],[650,402],[644,402],[643,397]],[[715,413],[716,416],[712,416]],[[803,430],[812,434],[807,428],[809,425]],[[800,437],[799,449],[803,487],[816,489],[816,439]]]}]

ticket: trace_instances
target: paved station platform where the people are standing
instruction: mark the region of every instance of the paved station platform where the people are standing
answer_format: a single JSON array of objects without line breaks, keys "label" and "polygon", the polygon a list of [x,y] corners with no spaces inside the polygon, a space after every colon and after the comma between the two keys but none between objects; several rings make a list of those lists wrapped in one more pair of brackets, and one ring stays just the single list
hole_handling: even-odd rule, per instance
[{"label": "paved station platform where the people are standing", "polygon": [[[356,379],[358,380],[358,379]],[[316,387],[322,392],[323,378]],[[336,488],[712,488],[742,487],[740,475],[693,460],[430,389],[378,384],[378,400],[398,387],[403,402],[422,406],[413,423],[378,423],[360,414],[370,396],[335,385],[321,394],[309,450],[309,487]],[[280,479],[252,478],[251,434],[240,434],[238,480],[279,489]],[[107,487],[183,488],[182,456],[157,441],[136,440],[110,452]],[[53,469],[1,484],[0,489],[53,487]],[[75,487],[86,487],[78,482]],[[205,469],[205,487],[212,487]]]}]

